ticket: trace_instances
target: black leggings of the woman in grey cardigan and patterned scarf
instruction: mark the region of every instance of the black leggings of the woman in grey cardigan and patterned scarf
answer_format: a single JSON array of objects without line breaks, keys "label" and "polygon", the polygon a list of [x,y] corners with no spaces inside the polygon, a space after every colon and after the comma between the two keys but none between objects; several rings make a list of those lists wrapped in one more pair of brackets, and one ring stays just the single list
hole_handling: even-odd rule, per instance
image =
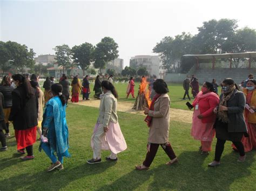
[{"label": "black leggings of the woman in grey cardigan and patterned scarf", "polygon": [[[215,161],[220,161],[221,154],[224,151],[224,145],[226,143],[226,140],[217,139],[216,147],[215,147]],[[237,147],[237,150],[239,151],[240,156],[245,155],[245,148],[242,142],[232,142],[235,147]]]}]

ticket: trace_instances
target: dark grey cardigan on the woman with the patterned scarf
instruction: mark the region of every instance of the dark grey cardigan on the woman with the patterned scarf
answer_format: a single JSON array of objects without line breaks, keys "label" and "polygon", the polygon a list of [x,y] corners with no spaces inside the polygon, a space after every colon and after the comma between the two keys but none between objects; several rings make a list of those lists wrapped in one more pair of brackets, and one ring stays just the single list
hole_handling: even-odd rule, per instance
[{"label": "dark grey cardigan on the woman with the patterned scarf", "polygon": [[[223,94],[220,95],[220,101]],[[227,101],[227,116],[230,119],[228,122],[228,132],[247,132],[247,127],[244,118],[245,110],[245,95],[237,89]]]}]

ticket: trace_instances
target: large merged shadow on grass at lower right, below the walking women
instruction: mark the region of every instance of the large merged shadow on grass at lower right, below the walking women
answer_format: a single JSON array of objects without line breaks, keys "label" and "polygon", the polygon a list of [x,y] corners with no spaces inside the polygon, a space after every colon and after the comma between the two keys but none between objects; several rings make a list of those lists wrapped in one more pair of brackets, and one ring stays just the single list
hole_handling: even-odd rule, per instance
[{"label": "large merged shadow on grass at lower right, below the walking women", "polygon": [[185,151],[178,156],[177,164],[161,164],[147,171],[134,169],[98,190],[228,190],[233,182],[251,174],[247,168],[251,166],[253,157],[242,164],[236,161],[237,157],[237,153],[226,154],[221,159],[223,164],[211,168],[207,167],[208,162],[204,162],[206,157],[198,152]]}]

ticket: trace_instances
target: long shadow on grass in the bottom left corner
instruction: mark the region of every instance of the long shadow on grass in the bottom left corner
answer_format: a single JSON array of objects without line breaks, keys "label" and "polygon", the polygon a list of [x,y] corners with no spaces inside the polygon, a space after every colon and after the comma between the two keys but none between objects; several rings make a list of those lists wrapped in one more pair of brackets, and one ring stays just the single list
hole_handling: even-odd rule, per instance
[{"label": "long shadow on grass in the bottom left corner", "polygon": [[[6,160],[6,159],[5,159]],[[10,162],[12,165],[13,163]],[[0,185],[6,185],[5,190],[18,190],[18,189],[26,189],[26,190],[43,190],[43,189],[51,189],[51,190],[59,190],[68,186],[70,182],[76,181],[81,178],[85,178],[86,176],[90,176],[93,174],[100,174],[106,171],[107,168],[115,165],[114,162],[101,162],[97,165],[89,165],[87,163],[76,166],[73,168],[65,167],[64,170],[58,171],[57,169],[52,172],[46,172],[45,166],[44,171],[40,171],[37,173],[24,173],[19,174],[18,176],[12,176],[9,179],[4,179],[0,181]],[[50,162],[49,162],[50,166]],[[67,180],[68,181],[65,181]]]}]

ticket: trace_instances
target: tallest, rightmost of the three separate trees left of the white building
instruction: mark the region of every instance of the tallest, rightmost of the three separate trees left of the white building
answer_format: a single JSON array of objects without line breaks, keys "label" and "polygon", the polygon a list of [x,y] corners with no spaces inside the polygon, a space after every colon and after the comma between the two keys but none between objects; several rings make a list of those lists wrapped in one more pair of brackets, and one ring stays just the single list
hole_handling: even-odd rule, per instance
[{"label": "tallest, rightmost of the three separate trees left of the white building", "polygon": [[94,51],[93,63],[95,68],[99,68],[100,73],[105,68],[106,63],[118,58],[118,44],[110,37],[104,37],[100,43],[96,45]]}]

